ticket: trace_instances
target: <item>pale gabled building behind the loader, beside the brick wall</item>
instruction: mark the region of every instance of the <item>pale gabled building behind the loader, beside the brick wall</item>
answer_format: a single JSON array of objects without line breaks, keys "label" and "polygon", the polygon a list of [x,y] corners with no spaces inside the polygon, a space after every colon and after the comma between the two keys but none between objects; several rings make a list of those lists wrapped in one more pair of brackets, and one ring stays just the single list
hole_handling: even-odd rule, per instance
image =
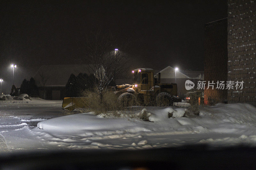
[{"label": "pale gabled building behind the loader, beside the brick wall", "polygon": [[[155,74],[161,73],[161,83],[175,83],[175,69],[171,66],[164,68],[163,70],[155,71]],[[185,82],[190,80],[194,82],[195,87],[191,90],[186,90]],[[176,83],[177,92],[180,94],[186,94],[187,92],[201,91],[196,89],[197,82],[204,80],[204,71],[191,71],[191,70],[177,70],[176,71]]]}]

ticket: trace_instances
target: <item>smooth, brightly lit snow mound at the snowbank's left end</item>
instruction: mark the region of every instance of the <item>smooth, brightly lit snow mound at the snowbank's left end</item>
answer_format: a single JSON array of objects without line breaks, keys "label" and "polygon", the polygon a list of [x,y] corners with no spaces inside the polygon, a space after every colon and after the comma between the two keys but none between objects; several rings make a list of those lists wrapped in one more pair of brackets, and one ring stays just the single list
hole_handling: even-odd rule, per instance
[{"label": "smooth, brightly lit snow mound at the snowbank's left end", "polygon": [[145,130],[139,124],[126,119],[104,118],[95,115],[75,114],[57,117],[37,123],[39,129],[54,133],[110,134],[109,131],[138,132]]}]

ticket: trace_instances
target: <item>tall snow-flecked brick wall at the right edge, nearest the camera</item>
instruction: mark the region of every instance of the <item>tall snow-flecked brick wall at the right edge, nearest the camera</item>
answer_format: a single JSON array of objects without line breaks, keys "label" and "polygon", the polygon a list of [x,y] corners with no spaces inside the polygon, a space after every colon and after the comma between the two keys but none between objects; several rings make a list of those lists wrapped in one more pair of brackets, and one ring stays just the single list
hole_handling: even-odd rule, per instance
[{"label": "tall snow-flecked brick wall at the right edge, nearest the camera", "polygon": [[228,80],[244,81],[242,90],[228,90],[229,103],[256,105],[255,0],[228,0]]}]

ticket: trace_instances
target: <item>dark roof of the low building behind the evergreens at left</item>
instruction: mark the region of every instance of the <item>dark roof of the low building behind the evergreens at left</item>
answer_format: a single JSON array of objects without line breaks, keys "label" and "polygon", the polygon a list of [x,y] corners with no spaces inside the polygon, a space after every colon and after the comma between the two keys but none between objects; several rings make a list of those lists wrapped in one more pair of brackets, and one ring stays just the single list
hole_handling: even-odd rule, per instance
[{"label": "dark roof of the low building behind the evergreens at left", "polygon": [[89,75],[90,65],[42,65],[36,72],[34,79],[37,86],[43,86],[40,74],[47,78],[45,86],[65,86],[71,74],[77,76],[79,73],[87,73]]}]

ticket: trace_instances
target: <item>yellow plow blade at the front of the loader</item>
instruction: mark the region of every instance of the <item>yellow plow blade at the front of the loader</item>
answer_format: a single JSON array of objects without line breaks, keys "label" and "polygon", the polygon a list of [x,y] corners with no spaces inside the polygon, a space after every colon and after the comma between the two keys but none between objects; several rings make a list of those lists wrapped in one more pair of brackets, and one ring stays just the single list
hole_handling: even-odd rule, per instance
[{"label": "yellow plow blade at the front of the loader", "polygon": [[88,104],[86,97],[65,97],[62,102],[62,109],[72,111],[76,108],[88,108]]}]

